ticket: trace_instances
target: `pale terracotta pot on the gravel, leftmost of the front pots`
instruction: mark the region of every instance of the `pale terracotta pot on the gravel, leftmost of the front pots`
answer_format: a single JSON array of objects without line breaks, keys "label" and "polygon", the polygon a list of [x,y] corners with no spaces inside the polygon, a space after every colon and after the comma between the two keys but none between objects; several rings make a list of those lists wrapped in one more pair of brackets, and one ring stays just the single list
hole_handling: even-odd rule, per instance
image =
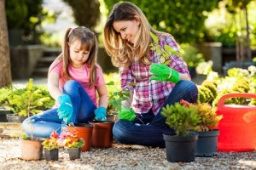
[{"label": "pale terracotta pot on the gravel, leftmost of the front pots", "polygon": [[43,140],[24,140],[20,142],[21,154],[23,160],[39,160],[43,155]]}]

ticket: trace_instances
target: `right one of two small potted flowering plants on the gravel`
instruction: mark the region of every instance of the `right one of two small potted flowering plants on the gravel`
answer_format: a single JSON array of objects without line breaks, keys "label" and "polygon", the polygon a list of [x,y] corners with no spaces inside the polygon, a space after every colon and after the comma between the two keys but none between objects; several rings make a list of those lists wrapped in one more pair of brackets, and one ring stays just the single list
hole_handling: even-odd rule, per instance
[{"label": "right one of two small potted flowering plants on the gravel", "polygon": [[67,131],[62,132],[59,139],[63,141],[62,145],[67,149],[70,160],[80,158],[81,148],[84,146],[84,139],[79,138],[75,132],[71,133]]}]

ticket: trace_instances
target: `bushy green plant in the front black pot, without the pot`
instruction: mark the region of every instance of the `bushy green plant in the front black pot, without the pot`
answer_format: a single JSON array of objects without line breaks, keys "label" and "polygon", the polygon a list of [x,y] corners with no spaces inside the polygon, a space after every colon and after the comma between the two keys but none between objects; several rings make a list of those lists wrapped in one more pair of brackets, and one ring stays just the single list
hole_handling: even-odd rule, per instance
[{"label": "bushy green plant in the front black pot, without the pot", "polygon": [[188,136],[189,131],[196,131],[197,125],[201,122],[195,108],[179,103],[166,105],[162,108],[161,114],[166,116],[166,124],[174,129],[178,136]]}]

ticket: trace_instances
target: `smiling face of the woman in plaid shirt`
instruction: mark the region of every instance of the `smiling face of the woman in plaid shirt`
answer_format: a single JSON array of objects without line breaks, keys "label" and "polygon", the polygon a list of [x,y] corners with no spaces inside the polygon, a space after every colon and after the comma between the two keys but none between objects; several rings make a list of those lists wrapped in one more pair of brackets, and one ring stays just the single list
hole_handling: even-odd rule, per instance
[{"label": "smiling face of the woman in plaid shirt", "polygon": [[113,29],[121,35],[122,39],[134,43],[140,23],[138,20],[119,20],[113,22]]}]

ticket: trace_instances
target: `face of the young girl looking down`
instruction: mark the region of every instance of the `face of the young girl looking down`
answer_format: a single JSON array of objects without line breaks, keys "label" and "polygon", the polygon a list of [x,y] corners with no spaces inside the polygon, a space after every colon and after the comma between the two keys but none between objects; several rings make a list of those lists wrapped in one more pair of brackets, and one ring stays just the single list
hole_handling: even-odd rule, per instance
[{"label": "face of the young girl looking down", "polygon": [[82,68],[89,58],[90,51],[85,51],[84,45],[79,40],[75,40],[69,44],[69,53],[71,65],[74,68]]}]

